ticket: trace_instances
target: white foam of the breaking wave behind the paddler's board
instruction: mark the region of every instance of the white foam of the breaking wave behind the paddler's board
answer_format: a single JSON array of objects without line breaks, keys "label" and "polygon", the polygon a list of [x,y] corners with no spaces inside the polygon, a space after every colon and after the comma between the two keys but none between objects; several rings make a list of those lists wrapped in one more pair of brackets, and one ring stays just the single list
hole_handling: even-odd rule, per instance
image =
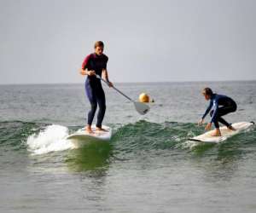
[{"label": "white foam of the breaking wave behind the paddler's board", "polygon": [[73,143],[65,139],[67,135],[67,127],[52,124],[38,134],[30,135],[26,140],[26,144],[28,145],[28,150],[33,154],[44,154],[74,148]]}]

